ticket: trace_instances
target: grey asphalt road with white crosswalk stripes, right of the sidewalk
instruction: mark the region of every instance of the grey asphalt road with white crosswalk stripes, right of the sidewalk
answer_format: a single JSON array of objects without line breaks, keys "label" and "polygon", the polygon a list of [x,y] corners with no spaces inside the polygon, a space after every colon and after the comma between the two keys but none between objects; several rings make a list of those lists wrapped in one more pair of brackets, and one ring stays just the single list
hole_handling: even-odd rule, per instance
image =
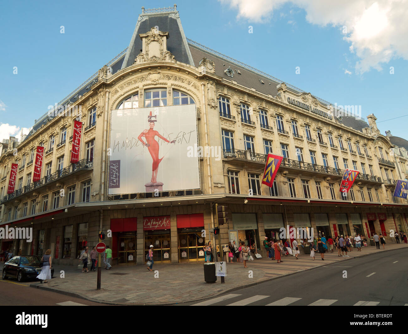
[{"label": "grey asphalt road with white crosswalk stripes, right of the sidewalk", "polygon": [[178,305],[408,306],[407,279],[408,250],[404,249],[341,261],[205,301]]}]

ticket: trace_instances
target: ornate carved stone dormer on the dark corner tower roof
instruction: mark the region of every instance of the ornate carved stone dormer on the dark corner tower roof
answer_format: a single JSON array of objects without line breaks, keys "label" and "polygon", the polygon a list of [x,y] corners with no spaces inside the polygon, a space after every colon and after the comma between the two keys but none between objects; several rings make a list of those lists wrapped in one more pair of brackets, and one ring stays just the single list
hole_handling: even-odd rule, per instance
[{"label": "ornate carved stone dormer on the dark corner tower roof", "polygon": [[175,62],[173,54],[167,50],[168,32],[159,31],[155,27],[147,33],[139,34],[142,40],[142,52],[139,53],[133,64],[143,62]]}]

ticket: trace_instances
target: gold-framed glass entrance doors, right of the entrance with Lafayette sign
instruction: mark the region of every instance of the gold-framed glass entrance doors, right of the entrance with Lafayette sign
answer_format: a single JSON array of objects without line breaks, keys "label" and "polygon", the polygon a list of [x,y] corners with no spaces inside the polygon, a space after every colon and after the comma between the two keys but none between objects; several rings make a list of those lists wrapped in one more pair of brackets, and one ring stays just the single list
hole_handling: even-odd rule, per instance
[{"label": "gold-framed glass entrance doors, right of the entrance with Lafayette sign", "polygon": [[[204,260],[205,255],[203,246],[205,239],[201,237],[201,230],[199,232],[179,233],[178,235],[178,249],[179,261],[190,262]],[[213,254],[215,249],[213,247]]]}]

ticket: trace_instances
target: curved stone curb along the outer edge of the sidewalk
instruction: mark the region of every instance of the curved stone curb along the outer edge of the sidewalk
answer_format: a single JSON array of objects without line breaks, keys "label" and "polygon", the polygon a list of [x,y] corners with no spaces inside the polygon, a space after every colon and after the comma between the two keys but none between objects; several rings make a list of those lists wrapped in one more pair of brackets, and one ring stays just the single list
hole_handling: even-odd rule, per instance
[{"label": "curved stone curb along the outer edge of the sidewalk", "polygon": [[[396,250],[401,250],[401,249],[404,249],[404,248],[382,250],[380,253],[394,252]],[[335,261],[333,263],[348,261],[348,260],[351,260],[351,259],[359,259],[361,257],[367,257],[367,256],[370,256],[370,255],[373,255],[373,254],[378,254],[378,253],[364,254],[364,255],[360,255],[358,257],[350,256],[350,258],[341,259],[341,260]],[[101,301],[99,299],[89,298],[88,296],[84,296],[82,294],[77,294],[77,293],[74,293],[74,292],[68,292],[68,291],[64,291],[64,290],[49,288],[47,286],[40,285],[40,283],[30,284],[29,286],[31,288],[37,288],[37,289],[40,289],[40,290],[51,291],[51,292],[63,294],[63,295],[66,295],[66,296],[80,298],[80,299],[84,299],[84,300],[87,300],[87,301],[92,301],[94,303],[100,303],[100,304],[120,305],[120,306],[132,306],[132,305],[135,305],[135,306],[169,306],[169,305],[178,305],[178,304],[192,303],[192,302],[195,302],[195,301],[201,301],[201,300],[204,300],[204,299],[208,299],[210,297],[220,296],[221,294],[225,294],[225,293],[228,293],[228,292],[233,292],[233,291],[240,290],[240,289],[250,288],[252,286],[262,284],[262,283],[265,283],[265,282],[269,282],[269,281],[273,281],[274,279],[279,279],[281,277],[287,277],[287,276],[291,276],[291,275],[294,275],[294,274],[298,274],[299,272],[305,272],[307,270],[313,270],[313,269],[316,269],[316,268],[320,268],[320,267],[323,267],[325,265],[326,265],[325,263],[322,263],[322,265],[317,265],[316,267],[312,267],[312,268],[308,268],[308,269],[301,269],[301,270],[298,270],[298,271],[295,271],[295,272],[290,272],[288,274],[283,274],[283,275],[279,275],[279,276],[275,276],[275,277],[269,277],[269,278],[266,278],[266,279],[259,279],[258,281],[255,281],[253,283],[247,283],[247,284],[239,285],[239,286],[230,288],[230,289],[222,291],[222,292],[214,292],[213,294],[209,294],[209,295],[207,295],[205,297],[202,297],[202,298],[199,298],[199,299],[192,299],[192,300],[182,301],[182,302],[177,302],[177,303],[175,303],[175,302],[165,302],[165,303],[114,303],[114,302],[111,302],[111,301]]]}]

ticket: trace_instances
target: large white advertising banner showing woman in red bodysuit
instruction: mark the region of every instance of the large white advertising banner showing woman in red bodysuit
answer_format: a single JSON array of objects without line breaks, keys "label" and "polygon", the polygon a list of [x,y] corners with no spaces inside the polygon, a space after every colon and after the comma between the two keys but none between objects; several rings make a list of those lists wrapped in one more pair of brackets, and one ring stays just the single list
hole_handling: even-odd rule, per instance
[{"label": "large white advertising banner showing woman in red bodysuit", "polygon": [[195,104],[112,110],[109,195],[200,188]]}]

